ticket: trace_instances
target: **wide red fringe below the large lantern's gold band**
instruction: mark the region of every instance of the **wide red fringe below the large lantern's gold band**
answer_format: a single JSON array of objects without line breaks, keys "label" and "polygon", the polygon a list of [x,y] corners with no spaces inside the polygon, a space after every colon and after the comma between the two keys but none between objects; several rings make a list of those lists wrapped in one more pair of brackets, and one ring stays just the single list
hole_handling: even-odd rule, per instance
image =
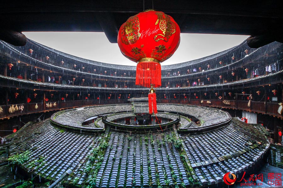
[{"label": "wide red fringe below the large lantern's gold band", "polygon": [[155,61],[141,61],[136,65],[136,85],[150,87],[161,86],[161,65]]}]

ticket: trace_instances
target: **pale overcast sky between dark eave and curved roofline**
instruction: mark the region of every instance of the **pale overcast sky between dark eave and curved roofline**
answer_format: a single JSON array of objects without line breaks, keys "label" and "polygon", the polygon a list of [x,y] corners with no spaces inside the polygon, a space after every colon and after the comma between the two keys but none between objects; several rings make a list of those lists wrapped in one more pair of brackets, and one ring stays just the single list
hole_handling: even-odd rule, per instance
[{"label": "pale overcast sky between dark eave and curved roofline", "polygon": [[[118,44],[108,41],[104,33],[92,32],[24,32],[38,43],[67,54],[120,65],[136,65],[119,50]],[[175,54],[161,65],[171,65],[199,59],[241,44],[246,35],[181,34]]]}]

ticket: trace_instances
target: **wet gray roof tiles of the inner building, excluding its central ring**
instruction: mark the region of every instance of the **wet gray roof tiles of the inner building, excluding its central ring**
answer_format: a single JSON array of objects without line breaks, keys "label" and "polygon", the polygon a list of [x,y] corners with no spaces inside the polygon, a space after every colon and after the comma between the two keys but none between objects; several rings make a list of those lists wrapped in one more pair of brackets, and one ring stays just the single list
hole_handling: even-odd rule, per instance
[{"label": "wet gray roof tiles of the inner building, excluding its central ring", "polygon": [[[125,105],[126,108],[128,106]],[[217,122],[217,119],[211,120],[215,114],[209,112],[213,109],[198,107],[190,111],[191,107],[186,105],[158,107],[195,115],[201,115],[203,111],[206,112],[202,116],[205,123]],[[92,108],[95,110],[91,112]],[[86,118],[84,112],[91,116],[91,113],[116,110],[119,109],[111,106],[90,107],[63,111],[57,117],[61,122],[72,123],[69,119],[73,117],[67,117],[72,114],[76,117],[73,119],[81,122]],[[222,112],[216,110],[212,113]],[[224,112],[223,115],[225,119]],[[221,121],[222,118],[219,118],[218,121]],[[76,124],[80,126],[80,123]],[[102,152],[101,156],[94,152],[97,147]],[[73,173],[64,179],[64,184],[86,186],[95,181],[96,187],[146,187],[217,184],[226,172],[239,174],[251,168],[268,149],[268,139],[261,129],[234,118],[225,127],[197,134],[182,134],[179,130],[131,134],[109,129],[105,130],[105,134],[84,134],[60,130],[47,119],[19,130],[9,151],[15,154],[29,150],[29,162],[25,162],[23,167],[34,175],[40,174],[42,180],[54,181],[70,169]],[[95,159],[92,160],[92,156]],[[42,157],[41,163],[33,163]]]}]

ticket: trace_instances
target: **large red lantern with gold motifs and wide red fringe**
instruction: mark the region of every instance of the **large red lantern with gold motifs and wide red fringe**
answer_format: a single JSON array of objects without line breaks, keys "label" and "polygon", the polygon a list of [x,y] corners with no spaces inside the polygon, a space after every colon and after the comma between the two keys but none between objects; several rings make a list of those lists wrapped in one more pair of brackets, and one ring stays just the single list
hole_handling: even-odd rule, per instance
[{"label": "large red lantern with gold motifs and wide red fringe", "polygon": [[128,18],[119,29],[117,42],[123,55],[137,62],[136,85],[161,86],[160,62],[180,44],[180,28],[163,12],[146,10]]}]

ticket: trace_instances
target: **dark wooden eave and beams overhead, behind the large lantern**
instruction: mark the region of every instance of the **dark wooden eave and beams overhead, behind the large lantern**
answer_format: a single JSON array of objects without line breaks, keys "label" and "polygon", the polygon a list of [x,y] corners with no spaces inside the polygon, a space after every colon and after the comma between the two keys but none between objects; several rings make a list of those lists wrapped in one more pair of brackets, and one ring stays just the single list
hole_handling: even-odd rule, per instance
[{"label": "dark wooden eave and beams overhead, behind the large lantern", "polygon": [[[172,16],[182,33],[252,35],[252,48],[269,41],[282,41],[279,31],[283,29],[283,17],[279,1],[257,2],[256,6],[209,1],[188,3],[185,0],[177,3],[153,0],[80,4],[53,0],[31,2],[3,3],[0,7],[2,28],[14,31],[103,31],[111,43],[116,43],[118,29],[127,18],[154,8]],[[269,34],[271,32],[274,33]],[[8,42],[8,39],[3,40]]]}]

